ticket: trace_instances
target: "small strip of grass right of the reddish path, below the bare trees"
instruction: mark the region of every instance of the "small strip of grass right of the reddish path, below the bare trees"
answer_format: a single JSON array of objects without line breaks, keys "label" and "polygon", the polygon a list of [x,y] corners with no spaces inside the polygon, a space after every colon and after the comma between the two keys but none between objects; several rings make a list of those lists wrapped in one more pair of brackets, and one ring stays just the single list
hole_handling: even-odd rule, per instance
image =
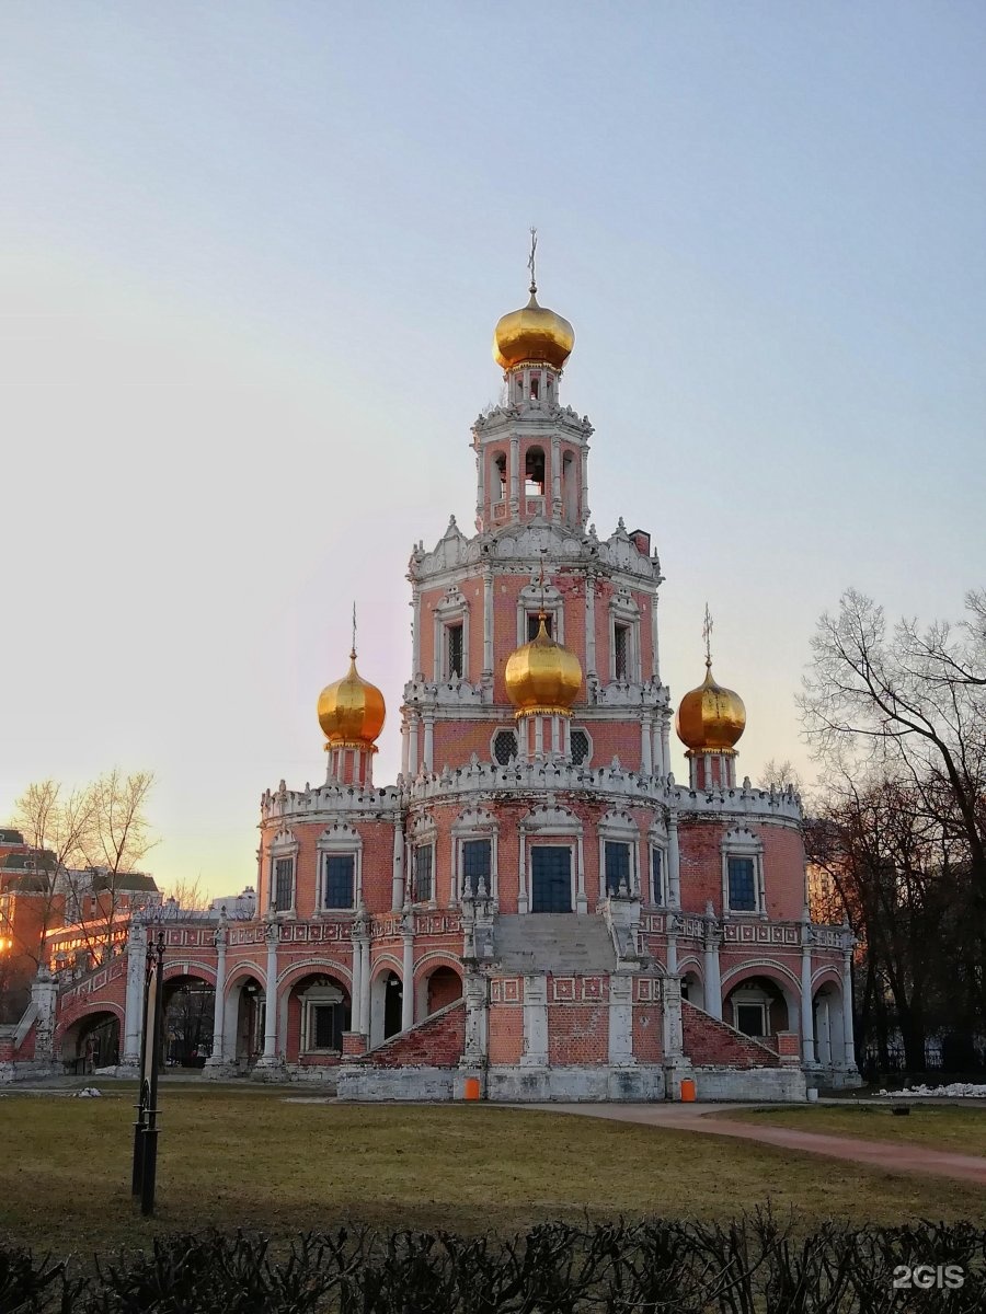
[{"label": "small strip of grass right of the reddish path, below the bare trees", "polygon": [[798,1131],[858,1137],[861,1141],[903,1141],[929,1146],[932,1150],[986,1155],[986,1109],[920,1101],[912,1101],[910,1108],[911,1112],[903,1118],[894,1116],[890,1100],[886,1105],[820,1104],[815,1108],[738,1109],[722,1117],[774,1127],[797,1127]]}]

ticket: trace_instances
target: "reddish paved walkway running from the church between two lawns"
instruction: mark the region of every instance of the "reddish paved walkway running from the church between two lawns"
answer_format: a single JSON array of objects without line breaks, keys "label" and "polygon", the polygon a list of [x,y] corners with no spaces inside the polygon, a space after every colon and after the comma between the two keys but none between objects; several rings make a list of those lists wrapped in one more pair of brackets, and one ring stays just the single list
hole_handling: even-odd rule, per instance
[{"label": "reddish paved walkway running from the church between two lawns", "polygon": [[[848,1159],[852,1163],[882,1168],[885,1172],[922,1172],[975,1181],[986,1187],[986,1159],[978,1155],[931,1150],[907,1142],[858,1141],[856,1137],[832,1137],[820,1131],[760,1126],[709,1116],[728,1113],[736,1108],[735,1104],[528,1104],[525,1108],[544,1109],[550,1113],[575,1113],[588,1118],[613,1118],[617,1122],[640,1122],[651,1127],[674,1127],[678,1131],[699,1131],[714,1137],[735,1137],[739,1141],[780,1146],[782,1150],[802,1150],[827,1155],[830,1159]],[[743,1108],[763,1108],[763,1105],[751,1104]]]}]

